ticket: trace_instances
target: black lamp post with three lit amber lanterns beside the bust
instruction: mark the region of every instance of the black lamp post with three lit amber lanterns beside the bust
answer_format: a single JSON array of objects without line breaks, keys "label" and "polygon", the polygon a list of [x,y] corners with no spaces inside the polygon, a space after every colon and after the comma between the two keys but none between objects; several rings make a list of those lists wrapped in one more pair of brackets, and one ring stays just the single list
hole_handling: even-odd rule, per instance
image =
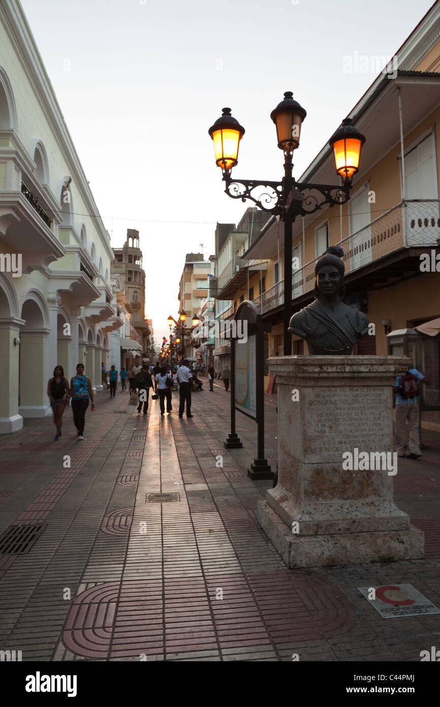
[{"label": "black lamp post with three lit amber lanterns beside the bust", "polygon": [[[292,177],[292,155],[299,147],[302,122],[307,112],[286,91],[270,117],[275,123],[278,147],[283,150],[284,177],[281,182],[269,180],[234,180],[232,168],[237,165],[239,142],[244,127],[232,117],[230,108],[223,108],[220,118],[208,130],[214,143],[215,163],[222,170],[225,192],[232,199],[251,199],[263,211],[269,211],[284,221],[284,354],[292,354],[292,337],[287,331],[292,310],[292,223],[297,216],[314,214],[324,204],[345,204],[350,199],[352,177],[359,168],[359,156],[364,136],[352,125],[350,118],[333,134],[328,144],[333,148],[336,173],[343,184],[322,185],[296,182]],[[253,193],[263,187],[263,192]],[[258,196],[259,193],[259,196]]]}]

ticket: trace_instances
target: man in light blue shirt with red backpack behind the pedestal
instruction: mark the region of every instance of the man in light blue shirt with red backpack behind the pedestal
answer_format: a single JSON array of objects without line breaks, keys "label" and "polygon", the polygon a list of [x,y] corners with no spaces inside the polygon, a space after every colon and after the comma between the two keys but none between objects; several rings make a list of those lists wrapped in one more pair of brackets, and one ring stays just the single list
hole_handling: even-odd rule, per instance
[{"label": "man in light blue shirt with red backpack behind the pedestal", "polygon": [[[396,442],[398,457],[408,456],[408,459],[418,459],[420,451],[420,391],[419,382],[429,384],[429,380],[417,368],[409,368],[404,375],[398,375],[393,390],[396,392]],[[406,429],[408,418],[410,427],[410,454],[406,455]]]}]

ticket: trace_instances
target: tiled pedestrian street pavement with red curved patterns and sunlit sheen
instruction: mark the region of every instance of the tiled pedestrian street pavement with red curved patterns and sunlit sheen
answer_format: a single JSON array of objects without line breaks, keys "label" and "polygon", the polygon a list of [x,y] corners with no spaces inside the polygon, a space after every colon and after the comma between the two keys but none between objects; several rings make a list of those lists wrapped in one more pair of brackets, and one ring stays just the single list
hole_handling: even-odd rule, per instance
[{"label": "tiled pedestrian street pavement with red curved patterns and sunlit sheen", "polygon": [[[287,570],[256,521],[271,482],[246,476],[254,422],[238,414],[244,448],[227,451],[230,394],[197,393],[182,420],[173,397],[160,418],[157,403],[139,417],[126,393],[97,394],[82,443],[69,409],[57,443],[49,418],[0,439],[0,532],[44,525],[28,554],[0,554],[0,648],[46,661],[394,661],[440,644],[439,614],[385,621],[357,590],[412,583],[440,607],[439,433],[424,432],[423,460],[395,479],[427,559]],[[266,395],[274,469],[275,405]]]}]

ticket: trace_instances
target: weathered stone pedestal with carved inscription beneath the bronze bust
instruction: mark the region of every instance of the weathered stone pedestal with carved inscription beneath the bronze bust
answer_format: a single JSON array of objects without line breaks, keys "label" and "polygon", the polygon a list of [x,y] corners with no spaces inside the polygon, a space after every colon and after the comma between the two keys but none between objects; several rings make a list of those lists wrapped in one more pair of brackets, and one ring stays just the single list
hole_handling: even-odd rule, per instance
[{"label": "weathered stone pedestal with carved inscription beneath the bronze bust", "polygon": [[278,390],[278,486],[258,502],[258,521],[287,566],[424,556],[424,534],[395,505],[388,469],[343,468],[344,452],[355,456],[355,449],[370,460],[371,452],[391,452],[393,460],[391,386],[409,361],[269,358]]}]

